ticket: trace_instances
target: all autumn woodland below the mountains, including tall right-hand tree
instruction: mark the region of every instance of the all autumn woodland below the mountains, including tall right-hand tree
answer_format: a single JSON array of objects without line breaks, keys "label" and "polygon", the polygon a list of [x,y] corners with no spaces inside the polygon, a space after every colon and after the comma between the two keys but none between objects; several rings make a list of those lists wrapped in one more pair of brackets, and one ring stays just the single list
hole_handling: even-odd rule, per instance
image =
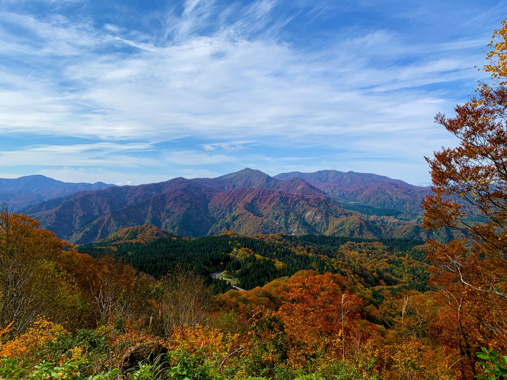
[{"label": "all autumn woodland below the mountains, including tall right-hand tree", "polygon": [[[229,233],[207,242],[166,236],[164,245],[159,231],[130,229],[120,236],[123,257],[150,246],[153,273],[144,271],[164,268],[156,279],[111,255],[120,245],[92,257],[3,208],[0,378],[502,378],[506,36],[503,23],[485,66],[492,84],[453,117],[436,118],[459,145],[427,159],[434,194],[423,224],[461,240],[429,242],[424,256],[414,242]],[[187,261],[176,266],[168,246]],[[214,271],[244,272],[250,290],[213,293],[199,254]]]}]

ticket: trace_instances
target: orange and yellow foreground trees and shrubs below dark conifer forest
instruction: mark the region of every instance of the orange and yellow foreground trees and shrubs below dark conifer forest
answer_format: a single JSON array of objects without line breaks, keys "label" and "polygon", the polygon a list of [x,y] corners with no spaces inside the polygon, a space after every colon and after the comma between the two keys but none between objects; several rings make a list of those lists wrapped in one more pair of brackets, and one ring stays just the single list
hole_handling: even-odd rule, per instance
[{"label": "orange and yellow foreground trees and shrubs below dark conifer forest", "polygon": [[[69,363],[79,362],[82,373],[118,367],[126,374],[139,361],[154,360],[155,354],[150,354],[154,352],[165,355],[171,370],[182,376],[288,379],[313,373],[322,378],[401,379],[408,374],[422,379],[472,373],[473,358],[454,364],[468,352],[473,356],[473,351],[466,351],[472,343],[501,349],[500,340],[492,346],[478,338],[486,335],[474,323],[479,318],[495,320],[472,303],[456,309],[442,298],[447,293],[404,289],[412,277],[397,271],[403,267],[420,271],[427,264],[414,266],[408,257],[394,259],[389,247],[380,243],[340,243],[333,259],[322,255],[343,275],[305,270],[263,287],[214,297],[201,277],[182,267],[155,280],[112,256],[79,253],[39,230],[32,219],[7,213],[4,218],[9,237],[27,239],[31,247],[37,247],[36,237],[42,237],[41,244],[47,242],[40,261],[19,261],[33,271],[29,279],[37,286],[34,293],[21,293],[31,297],[26,299],[33,306],[27,309],[31,318],[3,325],[0,354],[17,363],[6,365],[34,368],[46,360],[77,371],[77,364]],[[264,260],[238,244],[231,254],[241,251],[248,253],[247,258]],[[294,249],[299,255],[314,255],[320,248]],[[394,270],[393,263],[399,269]],[[53,272],[45,272],[47,286],[41,287],[38,271],[43,268]],[[48,273],[61,281],[48,281]],[[379,273],[393,285],[380,281]],[[453,296],[459,295],[459,287],[447,288],[451,290]],[[59,306],[48,310],[40,303],[30,304],[31,299]],[[478,317],[461,315],[459,310]],[[456,330],[460,321],[463,329]]]}]

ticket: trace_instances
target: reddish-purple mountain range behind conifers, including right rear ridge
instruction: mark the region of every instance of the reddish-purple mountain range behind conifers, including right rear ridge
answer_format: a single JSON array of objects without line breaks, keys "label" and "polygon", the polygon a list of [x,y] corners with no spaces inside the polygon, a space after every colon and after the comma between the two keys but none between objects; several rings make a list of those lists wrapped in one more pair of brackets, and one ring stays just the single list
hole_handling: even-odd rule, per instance
[{"label": "reddish-purple mountain range behind conifers, including right rear ridge", "polygon": [[323,170],[271,177],[248,168],[216,178],[89,185],[104,188],[68,194],[66,187],[67,194],[31,204],[22,212],[78,244],[143,224],[187,237],[234,231],[420,238],[425,232],[415,220],[422,199],[431,192],[429,187],[375,174]]}]

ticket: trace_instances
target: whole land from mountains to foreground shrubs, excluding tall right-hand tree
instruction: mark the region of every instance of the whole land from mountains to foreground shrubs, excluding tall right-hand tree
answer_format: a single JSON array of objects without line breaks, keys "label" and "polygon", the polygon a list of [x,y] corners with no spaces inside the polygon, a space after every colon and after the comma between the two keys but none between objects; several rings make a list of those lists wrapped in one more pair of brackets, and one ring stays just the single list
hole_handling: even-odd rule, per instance
[{"label": "whole land from mountains to foreground shrubs, excluding tall right-hand tree", "polygon": [[[430,188],[248,168],[0,185],[2,378],[60,361],[62,374],[130,379],[158,360],[182,379],[468,378],[480,364],[457,350],[456,310],[481,347],[494,336],[484,323],[501,320],[474,307],[492,293],[479,300],[435,265],[460,235],[421,226]],[[9,212],[30,193],[42,202]],[[450,296],[470,299],[456,309]]]}]

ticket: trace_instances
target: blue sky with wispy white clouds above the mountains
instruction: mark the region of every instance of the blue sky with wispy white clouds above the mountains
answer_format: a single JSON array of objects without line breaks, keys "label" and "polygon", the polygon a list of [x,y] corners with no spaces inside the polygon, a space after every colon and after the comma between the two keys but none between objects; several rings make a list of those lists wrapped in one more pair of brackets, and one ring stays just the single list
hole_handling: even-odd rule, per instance
[{"label": "blue sky with wispy white clouds above the mountains", "polygon": [[507,1],[2,0],[0,178],[430,184]]}]

